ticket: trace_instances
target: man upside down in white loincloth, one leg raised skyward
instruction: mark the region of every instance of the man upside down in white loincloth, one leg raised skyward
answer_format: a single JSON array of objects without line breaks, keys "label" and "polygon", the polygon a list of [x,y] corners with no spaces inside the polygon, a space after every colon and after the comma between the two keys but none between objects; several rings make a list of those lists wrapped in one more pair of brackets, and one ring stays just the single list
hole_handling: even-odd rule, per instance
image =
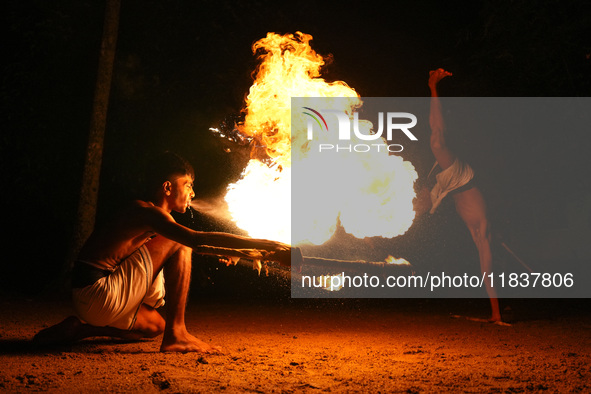
[{"label": "man upside down in white loincloth, one leg raised skyward", "polygon": [[[441,113],[441,102],[437,94],[437,84],[448,76],[451,76],[451,73],[441,68],[429,73],[429,88],[431,90],[431,112],[429,116],[431,151],[443,170],[442,174],[446,170],[447,174],[450,174],[447,182],[445,177],[440,180],[438,176],[438,185],[431,191],[431,213],[434,212],[441,199],[449,192],[454,199],[456,211],[470,230],[470,234],[472,234],[472,239],[478,249],[480,269],[482,272],[489,273],[492,270],[492,253],[490,248],[490,225],[486,216],[486,203],[478,187],[470,184],[473,176],[472,169],[467,164],[458,160],[457,156],[449,150],[445,142],[445,123],[443,122]],[[451,176],[452,171],[454,173],[453,176]],[[488,276],[485,277],[485,284],[492,310],[489,321],[500,322],[501,312],[499,310],[497,293],[491,286]]]}]

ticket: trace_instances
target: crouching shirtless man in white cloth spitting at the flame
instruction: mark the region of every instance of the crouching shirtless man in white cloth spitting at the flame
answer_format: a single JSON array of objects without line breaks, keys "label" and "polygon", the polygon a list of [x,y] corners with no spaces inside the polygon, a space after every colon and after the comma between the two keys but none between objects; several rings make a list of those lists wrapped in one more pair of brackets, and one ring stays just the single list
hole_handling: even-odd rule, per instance
[{"label": "crouching shirtless man in white cloth spitting at the flame", "polygon": [[[191,256],[197,253],[274,260],[289,265],[288,245],[226,233],[199,232],[175,222],[195,193],[194,173],[183,158],[165,153],[148,176],[146,201],[133,201],[112,223],[97,228],[80,251],[72,275],[74,309],[61,323],[40,331],[37,343],[87,337],[153,338],[164,333],[160,351],[217,352],[189,334],[185,306]],[[164,304],[166,321],[156,308]]]}]

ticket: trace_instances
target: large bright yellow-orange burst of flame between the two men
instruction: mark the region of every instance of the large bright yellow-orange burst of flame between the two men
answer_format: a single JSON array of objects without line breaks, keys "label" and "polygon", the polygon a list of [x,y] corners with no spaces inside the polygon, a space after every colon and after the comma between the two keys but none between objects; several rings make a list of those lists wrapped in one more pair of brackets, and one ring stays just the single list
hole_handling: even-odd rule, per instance
[{"label": "large bright yellow-orange burst of flame between the two men", "polygon": [[[326,242],[336,229],[337,218],[358,238],[403,234],[414,219],[417,174],[409,162],[384,149],[379,154],[336,155],[335,160],[341,162],[326,165],[326,157],[308,151],[306,130],[291,130],[292,97],[348,97],[348,108],[342,108],[347,113],[362,105],[357,92],[345,82],[320,78],[325,61],[310,47],[311,40],[311,35],[301,32],[268,33],[253,45],[260,64],[246,99],[244,123],[238,126],[242,134],[253,138],[253,154],[241,179],[228,187],[225,199],[230,214],[252,237],[294,245]],[[309,226],[301,232],[305,236],[293,238],[292,165],[316,168],[310,176],[323,179],[311,179],[310,184],[325,188],[322,193],[310,193],[324,198],[307,203]],[[331,172],[330,168],[340,170]],[[327,198],[331,195],[346,198]]]}]

